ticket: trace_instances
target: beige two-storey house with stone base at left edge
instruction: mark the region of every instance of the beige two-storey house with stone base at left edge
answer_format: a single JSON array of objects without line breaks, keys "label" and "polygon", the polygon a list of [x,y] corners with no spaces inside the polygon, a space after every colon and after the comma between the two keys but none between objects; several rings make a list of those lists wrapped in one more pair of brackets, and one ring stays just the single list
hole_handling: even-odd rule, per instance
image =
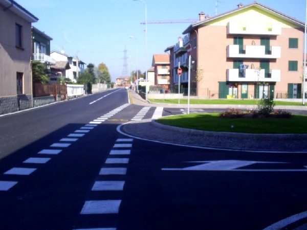
[{"label": "beige two-storey house with stone base at left edge", "polygon": [[31,23],[38,18],[0,0],[0,114],[32,107]]}]

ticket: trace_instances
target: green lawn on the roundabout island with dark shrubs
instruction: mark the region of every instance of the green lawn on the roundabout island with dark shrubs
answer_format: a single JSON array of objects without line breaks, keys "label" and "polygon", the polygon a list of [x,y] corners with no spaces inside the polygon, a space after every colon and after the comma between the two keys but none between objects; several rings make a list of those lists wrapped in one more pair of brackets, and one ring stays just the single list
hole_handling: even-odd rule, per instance
[{"label": "green lawn on the roundabout island with dark shrubs", "polygon": [[[307,133],[307,116],[292,118],[220,118],[218,113],[192,113],[163,117],[163,125],[216,132]],[[233,126],[233,128],[231,128]]]}]

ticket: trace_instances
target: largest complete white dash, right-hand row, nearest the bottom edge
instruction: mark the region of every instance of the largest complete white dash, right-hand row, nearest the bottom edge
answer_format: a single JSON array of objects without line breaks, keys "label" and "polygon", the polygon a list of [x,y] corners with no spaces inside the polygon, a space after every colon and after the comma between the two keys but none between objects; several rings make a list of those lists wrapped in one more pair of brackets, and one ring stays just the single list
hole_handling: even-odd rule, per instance
[{"label": "largest complete white dash, right-hand row, nearest the bottom edge", "polygon": [[80,214],[117,214],[121,200],[85,201]]}]

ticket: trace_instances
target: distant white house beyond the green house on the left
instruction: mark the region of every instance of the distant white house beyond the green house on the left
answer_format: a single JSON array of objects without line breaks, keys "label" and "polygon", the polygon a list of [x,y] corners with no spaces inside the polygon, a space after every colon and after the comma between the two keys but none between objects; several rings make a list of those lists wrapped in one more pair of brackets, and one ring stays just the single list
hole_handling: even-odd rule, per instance
[{"label": "distant white house beyond the green house on the left", "polygon": [[[68,62],[70,68],[65,68],[64,75],[54,75],[54,73],[58,73],[58,69],[51,66],[51,79],[56,79],[57,77],[65,77],[71,79],[73,82],[77,82],[79,73],[84,73],[84,65],[85,63],[78,59],[78,57],[73,57],[71,55],[65,54],[63,51],[51,51],[51,58],[56,60],[56,66],[63,66],[63,62]],[[62,62],[62,63],[58,63]]]}]

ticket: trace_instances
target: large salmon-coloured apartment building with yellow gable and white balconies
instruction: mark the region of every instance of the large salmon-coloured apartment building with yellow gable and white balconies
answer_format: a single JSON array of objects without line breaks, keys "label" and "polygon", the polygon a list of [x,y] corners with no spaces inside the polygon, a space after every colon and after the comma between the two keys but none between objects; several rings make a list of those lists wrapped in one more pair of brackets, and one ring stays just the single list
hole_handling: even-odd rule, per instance
[{"label": "large salmon-coloured apartment building with yellow gable and white balconies", "polygon": [[[187,85],[191,55],[191,92],[217,98],[301,98],[304,22],[260,3],[239,4],[212,16],[199,14],[173,53],[172,84]],[[183,64],[182,64],[183,63]]]}]

